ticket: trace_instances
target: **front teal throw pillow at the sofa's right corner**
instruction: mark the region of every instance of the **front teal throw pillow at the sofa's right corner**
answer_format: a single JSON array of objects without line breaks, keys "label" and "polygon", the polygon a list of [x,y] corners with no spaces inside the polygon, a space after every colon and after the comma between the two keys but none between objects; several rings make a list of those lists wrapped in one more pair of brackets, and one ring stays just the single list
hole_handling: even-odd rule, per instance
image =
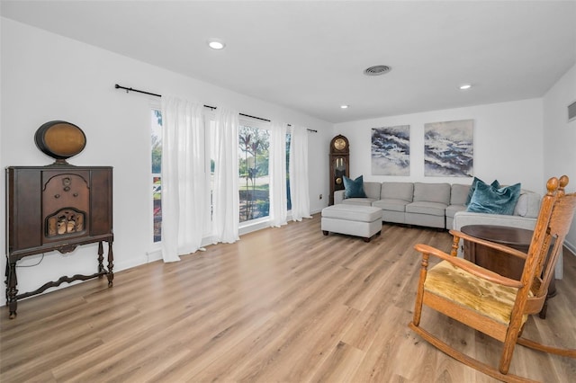
[{"label": "front teal throw pillow at the sofa's right corner", "polygon": [[519,198],[520,183],[503,188],[478,183],[466,211],[511,216]]}]

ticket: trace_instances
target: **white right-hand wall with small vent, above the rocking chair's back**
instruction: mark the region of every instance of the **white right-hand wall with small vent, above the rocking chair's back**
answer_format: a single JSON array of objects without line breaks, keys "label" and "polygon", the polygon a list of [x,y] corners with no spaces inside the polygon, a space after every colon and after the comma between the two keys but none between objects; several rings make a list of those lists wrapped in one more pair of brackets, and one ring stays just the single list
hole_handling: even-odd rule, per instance
[{"label": "white right-hand wall with small vent, above the rocking chair's back", "polygon": [[[576,191],[576,120],[568,122],[568,105],[576,102],[576,65],[544,97],[545,178],[568,175],[567,191]],[[566,245],[576,254],[576,218]]]}]

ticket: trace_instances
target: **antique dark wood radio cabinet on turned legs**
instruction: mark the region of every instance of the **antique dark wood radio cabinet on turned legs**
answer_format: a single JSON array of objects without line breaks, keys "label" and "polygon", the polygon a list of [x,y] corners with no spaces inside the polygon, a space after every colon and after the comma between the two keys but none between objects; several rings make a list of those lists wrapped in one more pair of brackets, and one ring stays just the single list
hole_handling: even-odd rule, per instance
[{"label": "antique dark wood radio cabinet on turned legs", "polygon": [[[6,301],[16,316],[18,299],[40,294],[63,282],[92,278],[113,281],[112,167],[11,166],[6,168]],[[103,242],[108,244],[107,266]],[[39,289],[18,294],[16,263],[23,257],[98,243],[97,272],[63,276]]]}]

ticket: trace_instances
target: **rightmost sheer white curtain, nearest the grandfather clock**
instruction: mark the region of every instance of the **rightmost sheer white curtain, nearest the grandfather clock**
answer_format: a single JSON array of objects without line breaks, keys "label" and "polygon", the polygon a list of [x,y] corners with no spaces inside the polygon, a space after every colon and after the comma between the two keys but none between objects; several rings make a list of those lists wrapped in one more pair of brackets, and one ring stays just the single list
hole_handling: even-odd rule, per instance
[{"label": "rightmost sheer white curtain, nearest the grandfather clock", "polygon": [[290,197],[293,220],[311,218],[308,191],[308,131],[292,126],[290,144]]}]

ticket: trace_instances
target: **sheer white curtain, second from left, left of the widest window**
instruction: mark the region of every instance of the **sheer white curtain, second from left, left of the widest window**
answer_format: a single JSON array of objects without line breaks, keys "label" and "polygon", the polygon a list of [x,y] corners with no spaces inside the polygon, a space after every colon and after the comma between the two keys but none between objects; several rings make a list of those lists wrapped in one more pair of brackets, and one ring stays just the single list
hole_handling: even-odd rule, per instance
[{"label": "sheer white curtain, second from left, left of the widest window", "polygon": [[212,241],[238,241],[238,111],[216,110]]}]

